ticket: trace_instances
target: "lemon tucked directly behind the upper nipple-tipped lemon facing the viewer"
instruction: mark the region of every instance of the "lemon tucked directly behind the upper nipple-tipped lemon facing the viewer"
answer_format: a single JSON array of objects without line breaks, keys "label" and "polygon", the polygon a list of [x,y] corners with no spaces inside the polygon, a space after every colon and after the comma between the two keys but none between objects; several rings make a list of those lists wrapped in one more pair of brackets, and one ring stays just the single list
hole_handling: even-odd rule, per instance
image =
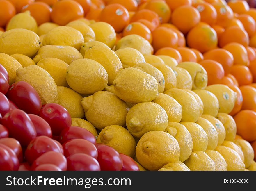
[{"label": "lemon tucked directly behind the upper nipple-tipped lemon facing the viewer", "polygon": [[152,102],[164,108],[168,116],[168,122],[180,122],[182,118],[182,106],[173,97],[159,93]]}]

